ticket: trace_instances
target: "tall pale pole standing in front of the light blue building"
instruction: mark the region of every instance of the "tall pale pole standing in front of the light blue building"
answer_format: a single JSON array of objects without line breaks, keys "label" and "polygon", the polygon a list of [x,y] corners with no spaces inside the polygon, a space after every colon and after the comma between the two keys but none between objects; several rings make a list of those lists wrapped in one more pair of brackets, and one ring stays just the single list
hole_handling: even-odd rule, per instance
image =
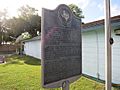
[{"label": "tall pale pole standing in front of the light blue building", "polygon": [[110,0],[105,0],[105,90],[112,90]]}]

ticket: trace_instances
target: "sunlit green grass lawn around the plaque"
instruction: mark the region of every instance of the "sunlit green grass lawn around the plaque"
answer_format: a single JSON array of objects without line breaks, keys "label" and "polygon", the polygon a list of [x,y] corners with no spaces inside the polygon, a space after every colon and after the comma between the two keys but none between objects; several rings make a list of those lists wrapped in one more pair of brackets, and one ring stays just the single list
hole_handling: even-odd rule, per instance
[{"label": "sunlit green grass lawn around the plaque", "polygon": [[[41,87],[40,60],[14,55],[7,57],[6,61],[7,63],[0,64],[0,90],[44,90]],[[71,84],[70,90],[104,90],[104,85],[81,77]]]}]

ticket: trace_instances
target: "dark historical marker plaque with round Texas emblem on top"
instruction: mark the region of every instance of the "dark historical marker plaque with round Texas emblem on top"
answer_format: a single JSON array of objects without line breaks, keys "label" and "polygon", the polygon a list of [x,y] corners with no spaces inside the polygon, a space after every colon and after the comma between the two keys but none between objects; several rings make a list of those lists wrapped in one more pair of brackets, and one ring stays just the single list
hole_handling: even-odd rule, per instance
[{"label": "dark historical marker plaque with round Texas emblem on top", "polygon": [[42,10],[43,87],[61,87],[82,74],[80,24],[66,5]]}]

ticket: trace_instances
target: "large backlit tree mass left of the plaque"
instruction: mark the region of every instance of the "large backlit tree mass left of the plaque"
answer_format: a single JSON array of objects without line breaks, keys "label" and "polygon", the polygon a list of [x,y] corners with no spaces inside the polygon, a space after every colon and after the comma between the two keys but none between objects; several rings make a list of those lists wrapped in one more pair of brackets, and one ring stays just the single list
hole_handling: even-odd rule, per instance
[{"label": "large backlit tree mass left of the plaque", "polygon": [[18,36],[28,32],[32,37],[41,32],[41,17],[35,8],[28,5],[18,9],[19,17],[6,18],[7,10],[0,11],[0,44],[15,41]]}]

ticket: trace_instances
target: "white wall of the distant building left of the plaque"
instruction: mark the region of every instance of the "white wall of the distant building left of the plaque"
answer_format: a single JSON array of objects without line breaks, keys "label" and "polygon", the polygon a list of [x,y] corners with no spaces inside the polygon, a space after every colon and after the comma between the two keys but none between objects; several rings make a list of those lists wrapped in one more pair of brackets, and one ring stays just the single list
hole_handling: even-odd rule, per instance
[{"label": "white wall of the distant building left of the plaque", "polygon": [[29,56],[41,59],[41,43],[40,40],[25,42],[24,53]]}]

